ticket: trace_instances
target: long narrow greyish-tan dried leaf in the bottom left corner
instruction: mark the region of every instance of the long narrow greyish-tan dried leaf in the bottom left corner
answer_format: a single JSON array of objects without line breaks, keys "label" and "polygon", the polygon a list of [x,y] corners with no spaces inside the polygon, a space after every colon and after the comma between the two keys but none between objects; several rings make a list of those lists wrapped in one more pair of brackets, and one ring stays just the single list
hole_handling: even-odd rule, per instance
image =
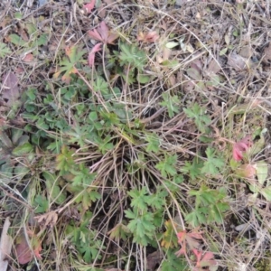
[{"label": "long narrow greyish-tan dried leaf in the bottom left corner", "polygon": [[9,218],[7,217],[5,219],[5,223],[2,229],[2,234],[1,234],[1,240],[0,240],[0,271],[5,271],[8,266],[8,257],[11,252],[12,248],[12,238],[7,235],[7,230],[9,229],[10,226],[10,221]]}]

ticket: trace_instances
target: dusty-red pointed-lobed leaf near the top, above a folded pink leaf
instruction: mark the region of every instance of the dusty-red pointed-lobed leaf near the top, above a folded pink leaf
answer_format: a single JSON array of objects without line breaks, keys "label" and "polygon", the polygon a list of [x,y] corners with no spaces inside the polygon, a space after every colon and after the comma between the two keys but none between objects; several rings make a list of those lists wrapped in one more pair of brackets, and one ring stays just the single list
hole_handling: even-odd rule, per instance
[{"label": "dusty-red pointed-lobed leaf near the top, above a folded pink leaf", "polygon": [[114,41],[117,40],[118,37],[116,33],[109,32],[107,24],[104,21],[101,22],[96,29],[89,30],[88,34],[90,38],[108,44],[114,44]]}]

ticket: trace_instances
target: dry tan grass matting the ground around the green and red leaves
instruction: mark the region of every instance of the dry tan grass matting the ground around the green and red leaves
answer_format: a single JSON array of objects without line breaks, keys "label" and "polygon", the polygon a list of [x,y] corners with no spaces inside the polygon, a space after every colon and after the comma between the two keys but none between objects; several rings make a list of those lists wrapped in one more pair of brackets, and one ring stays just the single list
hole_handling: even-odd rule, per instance
[{"label": "dry tan grass matting the ground around the green and red leaves", "polygon": [[[102,6],[96,8],[93,14],[86,14],[82,6],[75,2],[51,2],[40,8],[32,2],[28,6],[26,2],[7,1],[7,4],[0,4],[0,42],[5,42],[11,51],[0,59],[1,78],[6,71],[13,70],[22,96],[27,89],[37,89],[31,103],[31,106],[38,108],[36,114],[40,118],[53,110],[57,114],[51,120],[52,125],[45,127],[38,124],[38,120],[21,115],[25,113],[24,105],[29,102],[28,98],[22,98],[18,106],[10,107],[2,97],[2,132],[5,131],[11,138],[12,128],[23,130],[23,135],[31,138],[34,158],[27,160],[25,155],[14,157],[10,153],[5,154],[2,164],[11,159],[8,166],[15,168],[22,164],[28,172],[6,173],[2,166],[0,188],[1,223],[4,224],[6,217],[11,217],[10,234],[14,240],[22,232],[33,229],[42,244],[42,259],[34,257],[32,265],[35,267],[32,270],[146,270],[150,265],[153,265],[149,268],[151,270],[163,270],[159,265],[167,256],[159,233],[165,231],[164,221],[172,221],[176,232],[181,229],[193,230],[186,221],[186,216],[195,208],[194,198],[188,197],[188,192],[199,190],[201,184],[214,190],[225,188],[225,200],[230,206],[223,214],[221,224],[213,222],[201,225],[204,235],[202,250],[215,254],[220,266],[218,270],[268,270],[270,203],[262,194],[253,194],[249,190],[252,181],[238,178],[229,161],[232,143],[266,128],[264,145],[257,154],[249,156],[249,163],[262,161],[268,165],[265,185],[269,184],[269,5],[264,1],[244,1],[246,3],[240,5],[224,1],[190,1],[182,6],[174,5],[175,1],[167,1],[167,5],[160,3],[162,1],[102,1]],[[119,50],[118,44],[108,45],[107,50],[96,55],[97,70],[91,73],[89,68],[81,67],[78,77],[86,84],[76,82],[77,86],[81,84],[79,94],[67,94],[65,97],[62,93],[66,85],[61,79],[53,77],[65,56],[65,48],[75,45],[90,51],[95,41],[89,39],[87,32],[95,29],[101,21],[118,33],[119,40],[126,44],[138,44],[146,52],[145,74],[152,80],[145,84],[136,81],[129,84],[116,70],[108,68],[109,56]],[[30,23],[37,26],[33,33]],[[157,41],[137,42],[136,37],[140,32],[154,31],[159,35]],[[11,40],[14,33],[24,39],[26,45],[14,44]],[[35,46],[34,42],[42,34],[46,34],[46,44]],[[168,42],[179,44],[169,49],[165,46]],[[33,60],[25,61],[29,53],[33,53]],[[113,65],[117,65],[117,62],[113,62]],[[90,96],[88,93],[89,89],[93,90],[95,72],[104,74],[109,89],[118,88],[121,94],[110,102],[99,92],[93,91],[94,95]],[[2,94],[4,89],[2,81]],[[164,93],[178,98],[173,117],[161,105]],[[51,101],[44,102],[49,96]],[[210,141],[201,140],[204,133],[195,125],[195,119],[187,117],[183,110],[192,108],[195,103],[204,108],[203,113],[210,117]],[[107,126],[106,113],[112,113],[116,104],[119,106],[117,109],[126,112],[122,116],[126,124],[119,122]],[[83,124],[88,122],[92,105],[103,108],[101,112],[105,112],[105,115],[101,115],[104,117],[104,132],[100,138],[104,141],[108,139],[106,143],[114,145],[112,148],[101,150],[95,138],[88,137],[89,130],[84,130]],[[79,111],[79,107],[83,109]],[[61,119],[71,127],[70,130],[65,130],[64,125],[62,130],[56,128],[56,120]],[[146,151],[148,135],[157,135],[157,153]],[[76,136],[83,138],[81,144]],[[259,133],[255,141],[258,139]],[[48,147],[53,143],[55,150]],[[97,192],[100,199],[90,202],[88,208],[84,208],[82,201],[79,201],[81,192],[75,193],[70,188],[73,173],[70,173],[71,176],[58,174],[56,159],[60,157],[62,144],[69,145],[74,152],[72,157],[77,166],[85,164],[89,173],[97,173],[91,185],[85,184],[84,191]],[[194,158],[207,161],[205,151],[209,146],[223,155],[225,166],[215,177],[201,174],[193,180],[190,174],[182,172],[182,168]],[[156,167],[164,161],[165,155],[174,154],[177,155],[176,170],[184,176],[183,182],[177,185],[177,192],[171,191],[166,184],[170,182],[175,185],[173,179],[166,180]],[[67,194],[65,201],[57,203],[57,199],[52,197],[46,184],[48,180],[42,175],[44,172],[55,174],[54,183],[63,183],[60,188],[61,192]],[[257,182],[256,177],[253,182]],[[161,186],[168,195],[164,212],[160,214],[162,224],[157,226],[160,232],[155,234],[147,247],[141,246],[133,242],[126,229],[128,220],[125,210],[131,209],[133,201],[128,192],[146,187],[151,196]],[[44,213],[52,211],[57,216],[54,222],[45,223],[47,227],[42,227],[34,219],[38,215],[35,209],[36,195],[49,200]],[[149,212],[152,211],[154,208],[149,209]],[[79,229],[83,218],[90,212],[89,223],[84,229],[89,229],[89,247],[96,251],[91,252],[92,259],[87,264],[79,248],[72,243],[72,231],[68,228]],[[110,237],[117,227],[123,227],[128,238]],[[84,234],[87,236],[87,231]],[[86,238],[82,235],[80,238]],[[32,241],[31,238],[27,240],[29,243]],[[33,248],[33,245],[30,247]],[[177,248],[174,249],[177,251]],[[155,251],[161,252],[162,256],[150,259]],[[19,270],[16,257],[12,255],[11,258],[10,269]],[[151,264],[152,261],[154,263]],[[187,262],[183,270],[192,270],[193,259],[188,258]]]}]

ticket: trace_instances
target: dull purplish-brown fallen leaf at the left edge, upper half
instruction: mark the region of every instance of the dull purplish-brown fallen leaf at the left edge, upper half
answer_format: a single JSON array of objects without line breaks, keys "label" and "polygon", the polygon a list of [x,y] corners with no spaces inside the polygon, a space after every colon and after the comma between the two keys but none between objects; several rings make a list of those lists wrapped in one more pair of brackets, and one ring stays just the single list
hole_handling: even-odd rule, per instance
[{"label": "dull purplish-brown fallen leaf at the left edge, upper half", "polygon": [[6,104],[9,107],[12,107],[14,102],[21,96],[18,83],[19,81],[14,72],[8,71],[5,73],[3,77],[4,89],[2,91],[2,97],[7,100]]}]

